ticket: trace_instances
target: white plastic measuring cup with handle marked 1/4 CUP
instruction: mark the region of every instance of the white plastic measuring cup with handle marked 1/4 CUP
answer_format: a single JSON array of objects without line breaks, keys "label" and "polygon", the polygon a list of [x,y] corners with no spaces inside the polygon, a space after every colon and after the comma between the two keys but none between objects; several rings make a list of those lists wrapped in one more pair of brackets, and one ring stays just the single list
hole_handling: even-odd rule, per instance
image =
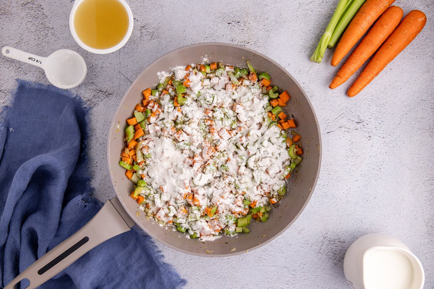
[{"label": "white plastic measuring cup with handle marked 1/4 CUP", "polygon": [[61,89],[76,87],[86,78],[86,62],[81,55],[69,49],[60,49],[48,57],[42,57],[4,46],[1,53],[6,57],[44,69],[49,82]]}]

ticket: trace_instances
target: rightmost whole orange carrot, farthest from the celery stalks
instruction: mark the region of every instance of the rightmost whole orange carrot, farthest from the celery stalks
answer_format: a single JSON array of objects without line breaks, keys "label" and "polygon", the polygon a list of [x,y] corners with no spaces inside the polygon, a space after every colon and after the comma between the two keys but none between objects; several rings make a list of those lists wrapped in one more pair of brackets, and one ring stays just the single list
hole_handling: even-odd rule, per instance
[{"label": "rightmost whole orange carrot, farthest from the celery stalks", "polygon": [[353,85],[351,85],[348,90],[348,96],[353,97],[358,94],[375,76],[378,76],[381,70],[422,31],[425,23],[427,23],[427,16],[422,11],[410,11],[388,39],[386,39],[385,43],[381,45]]}]

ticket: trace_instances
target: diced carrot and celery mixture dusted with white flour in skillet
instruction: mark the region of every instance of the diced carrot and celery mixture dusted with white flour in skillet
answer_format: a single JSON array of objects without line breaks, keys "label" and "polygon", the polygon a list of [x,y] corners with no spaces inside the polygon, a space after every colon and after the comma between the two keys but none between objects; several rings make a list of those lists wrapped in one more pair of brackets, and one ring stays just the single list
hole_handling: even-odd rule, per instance
[{"label": "diced carrot and celery mixture dusted with white flour in skillet", "polygon": [[249,233],[285,195],[303,154],[296,122],[282,110],[290,96],[247,66],[178,66],[143,91],[119,165],[147,218],[214,240]]}]

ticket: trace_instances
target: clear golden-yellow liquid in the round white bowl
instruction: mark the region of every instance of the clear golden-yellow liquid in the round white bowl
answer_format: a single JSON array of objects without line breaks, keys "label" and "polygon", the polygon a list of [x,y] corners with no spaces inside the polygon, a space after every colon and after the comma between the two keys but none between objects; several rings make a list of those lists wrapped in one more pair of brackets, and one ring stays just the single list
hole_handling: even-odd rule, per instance
[{"label": "clear golden-yellow liquid in the round white bowl", "polygon": [[128,13],[118,0],[83,0],[73,23],[84,44],[107,49],[121,42],[127,34]]}]

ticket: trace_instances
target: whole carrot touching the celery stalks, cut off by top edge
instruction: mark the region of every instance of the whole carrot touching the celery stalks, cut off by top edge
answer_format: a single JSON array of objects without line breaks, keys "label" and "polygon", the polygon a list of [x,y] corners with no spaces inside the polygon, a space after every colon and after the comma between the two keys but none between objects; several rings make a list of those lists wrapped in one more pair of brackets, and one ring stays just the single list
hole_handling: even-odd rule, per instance
[{"label": "whole carrot touching the celery stalks, cut off by top edge", "polygon": [[372,23],[383,14],[386,9],[392,5],[395,0],[367,0],[357,14],[355,14],[353,20],[348,25],[347,30],[342,34],[341,40],[336,46],[335,53],[332,57],[332,66],[338,65],[338,63],[344,58],[345,55],[352,49],[358,39],[360,39]]}]

